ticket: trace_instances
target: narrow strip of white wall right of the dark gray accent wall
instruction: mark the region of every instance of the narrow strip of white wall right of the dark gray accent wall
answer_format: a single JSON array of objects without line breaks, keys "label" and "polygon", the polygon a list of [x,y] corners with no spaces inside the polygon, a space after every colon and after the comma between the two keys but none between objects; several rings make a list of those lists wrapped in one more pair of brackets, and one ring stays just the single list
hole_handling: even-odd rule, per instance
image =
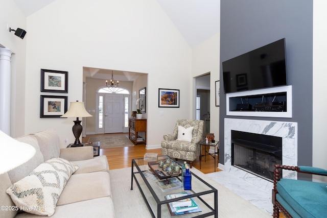
[{"label": "narrow strip of white wall right of the dark gray accent wall", "polygon": [[[326,1],[313,2],[313,161],[312,165],[327,169],[327,101],[325,101],[327,65],[327,14]],[[314,180],[327,182],[325,177],[314,177]]]}]

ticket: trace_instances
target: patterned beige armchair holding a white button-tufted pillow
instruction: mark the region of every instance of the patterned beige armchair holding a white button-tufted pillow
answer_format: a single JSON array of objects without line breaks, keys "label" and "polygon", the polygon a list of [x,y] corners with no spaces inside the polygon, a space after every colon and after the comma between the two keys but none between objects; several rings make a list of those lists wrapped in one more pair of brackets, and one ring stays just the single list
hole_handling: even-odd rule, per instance
[{"label": "patterned beige armchair holding a white button-tufted pillow", "polygon": [[190,161],[192,168],[192,161],[200,155],[203,125],[203,120],[178,119],[173,133],[165,134],[161,141],[161,154]]}]

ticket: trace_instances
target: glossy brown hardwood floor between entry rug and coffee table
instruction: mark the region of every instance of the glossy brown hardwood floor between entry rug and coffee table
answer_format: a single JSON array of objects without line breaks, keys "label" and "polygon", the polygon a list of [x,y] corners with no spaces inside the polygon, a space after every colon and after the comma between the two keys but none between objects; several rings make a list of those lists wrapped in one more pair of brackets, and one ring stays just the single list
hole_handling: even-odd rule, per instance
[{"label": "glossy brown hardwood floor between entry rug and coffee table", "polygon": [[[107,135],[107,134],[99,134],[99,135]],[[82,139],[82,142],[87,142],[88,138],[91,136],[97,136],[97,135],[87,135],[85,138]],[[130,147],[101,149],[101,145],[100,145],[100,155],[107,156],[110,169],[131,167],[132,159],[142,158],[144,154],[147,152],[158,153],[158,155],[161,155],[161,148],[147,150],[145,149],[145,144],[137,144],[136,146],[130,146]],[[202,151],[202,154],[204,154],[204,151]],[[216,157],[216,161],[218,161],[217,157]],[[201,162],[201,169],[200,169],[200,161],[198,158],[193,162],[193,166],[199,169],[199,171],[201,171],[204,174],[214,173],[215,159],[210,156],[206,156],[206,162],[204,162],[204,157],[203,157]],[[216,163],[216,167],[217,167],[217,163]],[[220,171],[220,169],[217,168],[216,172],[218,171]],[[280,213],[279,218],[285,218],[284,214]]]}]

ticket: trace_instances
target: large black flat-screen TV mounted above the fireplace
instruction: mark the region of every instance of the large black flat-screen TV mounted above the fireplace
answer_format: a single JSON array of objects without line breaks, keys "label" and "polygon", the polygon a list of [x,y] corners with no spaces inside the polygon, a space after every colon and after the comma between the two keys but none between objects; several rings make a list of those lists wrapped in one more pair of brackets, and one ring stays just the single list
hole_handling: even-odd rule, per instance
[{"label": "large black flat-screen TV mounted above the fireplace", "polygon": [[225,93],[287,85],[285,38],[222,64]]}]

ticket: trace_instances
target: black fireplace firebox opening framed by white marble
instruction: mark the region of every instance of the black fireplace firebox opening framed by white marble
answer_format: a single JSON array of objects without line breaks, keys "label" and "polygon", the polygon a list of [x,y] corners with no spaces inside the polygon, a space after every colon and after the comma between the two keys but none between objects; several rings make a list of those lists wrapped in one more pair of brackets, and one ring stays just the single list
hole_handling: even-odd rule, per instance
[{"label": "black fireplace firebox opening framed by white marble", "polygon": [[231,130],[231,165],[273,181],[282,164],[282,137]]}]

